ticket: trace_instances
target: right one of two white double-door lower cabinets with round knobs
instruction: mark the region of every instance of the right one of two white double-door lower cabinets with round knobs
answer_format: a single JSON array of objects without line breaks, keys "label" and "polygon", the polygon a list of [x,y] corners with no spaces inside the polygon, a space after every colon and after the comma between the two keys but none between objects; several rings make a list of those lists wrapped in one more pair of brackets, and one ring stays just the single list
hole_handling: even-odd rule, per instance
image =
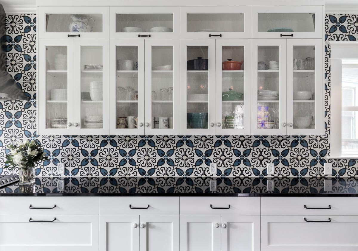
[{"label": "right one of two white double-door lower cabinets with round knobs", "polygon": [[181,215],[180,251],[260,250],[260,216]]}]

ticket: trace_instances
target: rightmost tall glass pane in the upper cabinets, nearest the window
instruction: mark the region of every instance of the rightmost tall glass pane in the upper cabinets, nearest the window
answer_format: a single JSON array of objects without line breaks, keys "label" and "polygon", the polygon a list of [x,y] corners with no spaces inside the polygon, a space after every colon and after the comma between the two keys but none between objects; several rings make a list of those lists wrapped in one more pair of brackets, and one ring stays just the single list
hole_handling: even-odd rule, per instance
[{"label": "rightmost tall glass pane in the upper cabinets, nearest the window", "polygon": [[293,127],[315,128],[315,46],[294,46],[293,54]]}]

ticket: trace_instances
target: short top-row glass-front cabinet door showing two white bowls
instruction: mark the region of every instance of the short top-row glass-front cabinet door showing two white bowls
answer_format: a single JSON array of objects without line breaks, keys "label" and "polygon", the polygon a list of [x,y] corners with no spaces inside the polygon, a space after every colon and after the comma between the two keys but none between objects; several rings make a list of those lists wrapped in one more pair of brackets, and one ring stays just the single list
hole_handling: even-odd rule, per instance
[{"label": "short top-row glass-front cabinet door showing two white bowls", "polygon": [[110,38],[179,38],[180,7],[110,7]]}]

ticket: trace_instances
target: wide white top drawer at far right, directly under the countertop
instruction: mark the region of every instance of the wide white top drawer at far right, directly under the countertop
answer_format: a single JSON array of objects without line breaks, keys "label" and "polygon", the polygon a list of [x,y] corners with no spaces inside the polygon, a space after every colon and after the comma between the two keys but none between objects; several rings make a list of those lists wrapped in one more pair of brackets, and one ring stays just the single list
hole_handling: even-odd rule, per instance
[{"label": "wide white top drawer at far right, directly under the countertop", "polygon": [[356,197],[261,198],[261,215],[358,215],[357,207]]}]

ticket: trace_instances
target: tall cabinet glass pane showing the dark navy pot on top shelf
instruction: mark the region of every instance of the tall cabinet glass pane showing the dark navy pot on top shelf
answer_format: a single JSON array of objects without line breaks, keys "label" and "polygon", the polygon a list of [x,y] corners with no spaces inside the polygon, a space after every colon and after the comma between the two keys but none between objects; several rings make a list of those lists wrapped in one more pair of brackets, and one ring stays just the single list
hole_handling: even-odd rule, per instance
[{"label": "tall cabinet glass pane showing the dark navy pot on top shelf", "polygon": [[208,53],[208,46],[187,46],[187,128],[208,128]]}]

